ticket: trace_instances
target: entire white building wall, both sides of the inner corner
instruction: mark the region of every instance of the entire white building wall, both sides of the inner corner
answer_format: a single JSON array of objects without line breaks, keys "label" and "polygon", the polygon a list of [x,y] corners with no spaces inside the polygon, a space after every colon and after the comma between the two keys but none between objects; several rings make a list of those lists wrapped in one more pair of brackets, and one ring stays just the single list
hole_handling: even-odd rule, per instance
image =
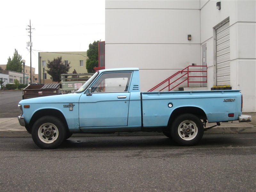
[{"label": "entire white building wall, both sides of the inner corner", "polygon": [[141,91],[147,91],[192,63],[201,65],[206,44],[210,90],[216,85],[214,28],[229,18],[230,86],[242,90],[244,112],[255,112],[255,1],[220,1],[221,10],[217,2],[107,0],[106,68],[139,67]]}]

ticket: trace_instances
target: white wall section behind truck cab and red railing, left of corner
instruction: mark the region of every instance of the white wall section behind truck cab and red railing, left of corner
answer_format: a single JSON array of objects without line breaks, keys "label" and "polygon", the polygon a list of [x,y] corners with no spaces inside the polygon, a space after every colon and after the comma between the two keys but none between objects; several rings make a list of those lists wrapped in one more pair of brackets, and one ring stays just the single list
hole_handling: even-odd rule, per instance
[{"label": "white wall section behind truck cab and red railing, left of corner", "polygon": [[106,1],[105,33],[106,68],[139,67],[141,91],[200,64],[199,1]]}]

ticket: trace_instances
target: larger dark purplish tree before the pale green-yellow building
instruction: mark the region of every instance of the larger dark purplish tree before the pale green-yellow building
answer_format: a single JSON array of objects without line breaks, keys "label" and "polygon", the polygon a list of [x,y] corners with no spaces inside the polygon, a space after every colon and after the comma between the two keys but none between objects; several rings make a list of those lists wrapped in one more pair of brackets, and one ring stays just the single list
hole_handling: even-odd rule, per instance
[{"label": "larger dark purplish tree before the pale green-yellow building", "polygon": [[71,68],[69,64],[70,62],[65,65],[62,61],[62,57],[58,57],[57,59],[54,58],[52,61],[48,60],[48,70],[46,71],[50,76],[52,76],[52,81],[60,83],[60,74],[68,73]]}]

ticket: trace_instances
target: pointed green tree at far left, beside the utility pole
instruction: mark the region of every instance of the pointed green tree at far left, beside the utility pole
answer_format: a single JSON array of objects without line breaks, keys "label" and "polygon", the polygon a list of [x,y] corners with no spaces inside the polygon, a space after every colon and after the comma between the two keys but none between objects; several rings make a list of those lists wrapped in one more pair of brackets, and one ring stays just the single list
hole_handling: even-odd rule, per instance
[{"label": "pointed green tree at far left, beside the utility pole", "polygon": [[16,72],[22,72],[22,56],[19,55],[18,51],[15,49],[14,54],[12,56],[12,59],[9,57],[7,64],[6,64],[6,70],[9,71],[16,71]]}]

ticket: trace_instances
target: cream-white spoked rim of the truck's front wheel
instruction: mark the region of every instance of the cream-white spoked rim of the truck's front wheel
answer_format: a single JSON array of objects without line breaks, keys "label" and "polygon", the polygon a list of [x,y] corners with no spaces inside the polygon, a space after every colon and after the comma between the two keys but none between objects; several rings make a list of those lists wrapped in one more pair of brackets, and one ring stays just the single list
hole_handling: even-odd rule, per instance
[{"label": "cream-white spoked rim of the truck's front wheel", "polygon": [[52,123],[42,124],[38,129],[39,139],[47,144],[53,143],[59,136],[59,130],[56,125]]}]

